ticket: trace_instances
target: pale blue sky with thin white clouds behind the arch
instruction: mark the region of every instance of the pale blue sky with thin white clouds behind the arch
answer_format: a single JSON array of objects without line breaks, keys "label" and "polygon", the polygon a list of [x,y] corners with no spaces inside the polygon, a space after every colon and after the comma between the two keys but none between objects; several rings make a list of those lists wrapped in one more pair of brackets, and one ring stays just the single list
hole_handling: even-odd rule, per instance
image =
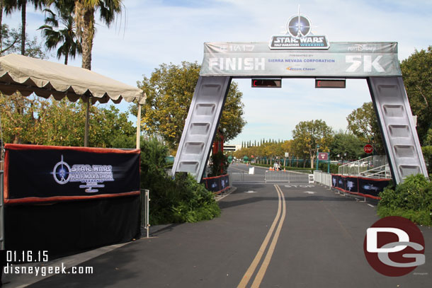
[{"label": "pale blue sky with thin white clouds behind the arch", "polygon": [[[432,45],[432,1],[425,0],[123,0],[125,9],[110,28],[96,26],[91,69],[132,86],[162,63],[203,61],[204,42],[268,42],[283,34],[288,19],[300,13],[312,21],[312,33],[329,42],[398,42],[399,60]],[[18,28],[21,14],[4,16]],[[26,29],[42,40],[44,14],[27,8]],[[50,52],[50,61],[57,60]],[[81,67],[81,58],[70,61]],[[346,130],[346,116],[370,93],[363,79],[347,79],[345,89],[316,89],[314,79],[283,79],[282,88],[251,88],[250,79],[234,79],[243,93],[243,132],[230,144],[260,139],[292,139],[300,121],[324,120]],[[117,107],[127,110],[123,101]],[[131,120],[136,121],[131,117]]]}]

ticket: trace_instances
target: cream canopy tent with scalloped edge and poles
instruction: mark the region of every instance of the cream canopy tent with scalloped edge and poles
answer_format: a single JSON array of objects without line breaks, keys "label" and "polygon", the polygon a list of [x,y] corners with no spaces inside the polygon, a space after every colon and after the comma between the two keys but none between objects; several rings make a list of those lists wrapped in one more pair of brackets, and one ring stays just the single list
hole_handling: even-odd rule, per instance
[{"label": "cream canopy tent with scalloped edge and poles", "polygon": [[88,103],[86,115],[86,135],[88,139],[89,103],[107,103],[112,100],[120,103],[137,100],[137,149],[140,148],[140,113],[145,103],[145,93],[137,87],[121,83],[88,69],[72,67],[64,64],[8,54],[0,57],[0,91],[11,95],[16,91],[25,97],[35,93],[37,96],[55,100],[67,97],[72,102],[79,98]]}]

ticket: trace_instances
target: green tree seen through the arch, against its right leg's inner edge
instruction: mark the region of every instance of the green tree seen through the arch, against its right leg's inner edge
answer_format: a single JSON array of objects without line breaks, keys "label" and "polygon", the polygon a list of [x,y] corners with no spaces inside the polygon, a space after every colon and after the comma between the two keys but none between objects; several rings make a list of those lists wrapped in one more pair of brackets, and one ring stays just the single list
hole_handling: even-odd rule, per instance
[{"label": "green tree seen through the arch, against its right leg's inner edge", "polygon": [[363,103],[346,117],[348,130],[353,132],[364,144],[371,144],[376,154],[385,154],[382,145],[380,126],[372,102]]}]

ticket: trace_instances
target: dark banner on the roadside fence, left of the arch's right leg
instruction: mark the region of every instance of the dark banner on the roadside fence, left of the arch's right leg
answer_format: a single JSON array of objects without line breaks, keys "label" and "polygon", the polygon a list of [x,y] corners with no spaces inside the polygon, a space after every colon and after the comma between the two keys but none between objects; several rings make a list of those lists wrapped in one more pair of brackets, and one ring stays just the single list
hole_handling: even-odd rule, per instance
[{"label": "dark banner on the roadside fence, left of the arch's right leg", "polygon": [[354,195],[381,199],[379,194],[389,185],[390,179],[363,178],[331,174],[331,187]]}]

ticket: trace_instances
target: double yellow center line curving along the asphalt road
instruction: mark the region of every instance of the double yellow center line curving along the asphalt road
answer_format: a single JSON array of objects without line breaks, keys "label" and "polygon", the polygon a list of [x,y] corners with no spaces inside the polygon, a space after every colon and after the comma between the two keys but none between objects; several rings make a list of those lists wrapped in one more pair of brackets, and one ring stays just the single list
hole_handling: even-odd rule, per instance
[{"label": "double yellow center line curving along the asphalt road", "polygon": [[[259,287],[259,284],[261,284],[261,281],[263,281],[263,277],[266,274],[268,264],[270,264],[271,256],[273,255],[273,252],[275,250],[276,243],[278,243],[280,230],[282,229],[283,221],[285,220],[285,214],[286,214],[285,197],[283,196],[283,192],[278,185],[275,185],[275,189],[276,192],[278,192],[278,213],[276,213],[276,217],[273,220],[273,223],[271,224],[271,227],[267,232],[266,238],[264,238],[264,241],[261,244],[258,253],[256,253],[254,260],[252,261],[246,273],[244,273],[237,288],[245,288],[246,285],[249,283],[249,280],[251,280],[252,275],[254,275],[256,267],[258,267],[258,263],[261,261],[261,258],[263,257],[264,252],[266,251],[268,243],[271,240],[270,246],[268,246],[266,257],[264,258],[263,263],[261,263],[261,267],[256,273],[251,288]],[[281,210],[282,210],[282,215],[280,213]],[[276,228],[275,234],[273,235],[273,231],[275,230],[276,224],[278,224],[278,227]],[[273,238],[271,238],[272,235]]]}]

